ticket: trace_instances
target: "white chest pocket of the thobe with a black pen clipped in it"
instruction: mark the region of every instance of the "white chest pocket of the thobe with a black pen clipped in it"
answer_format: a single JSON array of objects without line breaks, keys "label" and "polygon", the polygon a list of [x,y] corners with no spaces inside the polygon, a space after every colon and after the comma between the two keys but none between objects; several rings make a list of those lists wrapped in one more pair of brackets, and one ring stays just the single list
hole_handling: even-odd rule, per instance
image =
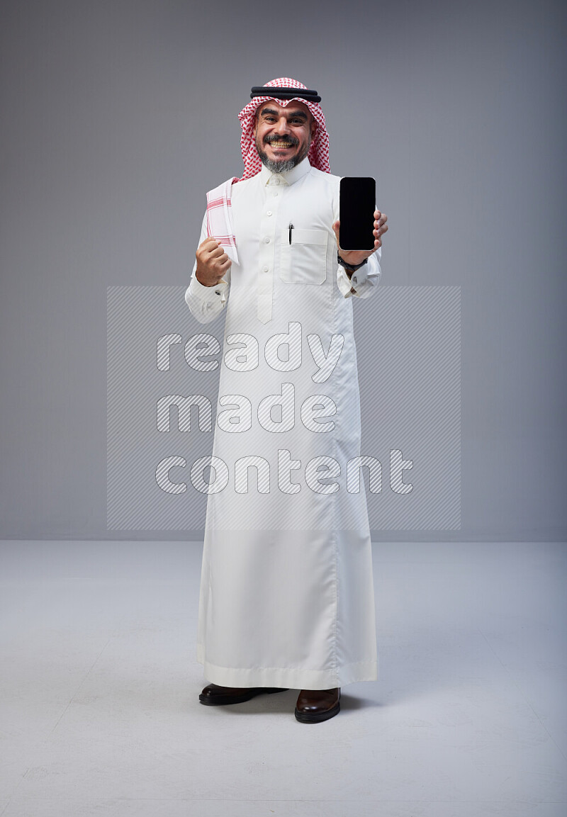
[{"label": "white chest pocket of the thobe with a black pen clipped in it", "polygon": [[324,283],[327,278],[326,230],[281,231],[279,277],[284,283]]}]

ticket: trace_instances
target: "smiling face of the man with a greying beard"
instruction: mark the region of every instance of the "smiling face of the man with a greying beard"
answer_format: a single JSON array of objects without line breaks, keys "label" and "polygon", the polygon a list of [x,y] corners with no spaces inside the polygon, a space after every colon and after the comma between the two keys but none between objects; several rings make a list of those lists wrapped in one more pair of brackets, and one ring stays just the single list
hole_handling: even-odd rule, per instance
[{"label": "smiling face of the man with a greying beard", "polygon": [[285,108],[274,100],[257,110],[254,136],[262,163],[273,173],[291,170],[306,158],[317,123],[310,109],[293,100]]}]

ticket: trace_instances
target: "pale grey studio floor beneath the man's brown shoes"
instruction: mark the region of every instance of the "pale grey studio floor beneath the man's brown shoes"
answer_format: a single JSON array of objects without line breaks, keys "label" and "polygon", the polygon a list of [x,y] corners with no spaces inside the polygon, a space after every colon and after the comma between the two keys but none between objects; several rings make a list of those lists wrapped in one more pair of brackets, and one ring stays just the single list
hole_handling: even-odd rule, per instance
[{"label": "pale grey studio floor beneath the man's brown shoes", "polygon": [[201,546],[2,542],[2,817],[565,817],[554,543],[375,543],[379,680],[208,708]]}]

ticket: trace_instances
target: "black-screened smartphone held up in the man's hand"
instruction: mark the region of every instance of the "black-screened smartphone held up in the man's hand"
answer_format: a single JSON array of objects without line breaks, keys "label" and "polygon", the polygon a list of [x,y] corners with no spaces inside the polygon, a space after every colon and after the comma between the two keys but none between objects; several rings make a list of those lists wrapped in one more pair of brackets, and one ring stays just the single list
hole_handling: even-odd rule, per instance
[{"label": "black-screened smartphone held up in the man's hand", "polygon": [[341,249],[373,250],[376,180],[372,176],[343,176],[339,208]]}]

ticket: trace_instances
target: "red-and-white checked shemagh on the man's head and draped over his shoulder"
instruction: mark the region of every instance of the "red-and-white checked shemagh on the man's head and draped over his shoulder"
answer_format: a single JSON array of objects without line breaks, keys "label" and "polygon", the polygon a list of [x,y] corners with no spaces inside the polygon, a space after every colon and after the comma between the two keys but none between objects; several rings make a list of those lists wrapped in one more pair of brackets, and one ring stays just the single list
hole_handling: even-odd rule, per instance
[{"label": "red-and-white checked shemagh on the man's head and draped over his shoulder", "polygon": [[[301,88],[302,90],[307,90],[306,85],[298,83],[296,79],[290,77],[272,79],[269,83],[266,83],[266,87]],[[261,171],[261,158],[258,155],[256,140],[254,138],[254,124],[257,109],[260,105],[264,105],[265,102],[270,101],[277,102],[277,104],[283,108],[293,101],[307,105],[317,123],[317,129],[311,141],[307,158],[309,159],[311,167],[316,167],[325,173],[331,172],[328,163],[328,133],[325,126],[324,114],[319,103],[302,99],[299,96],[294,96],[289,100],[276,99],[274,96],[255,96],[250,100],[248,105],[239,113],[240,127],[242,127],[240,149],[242,150],[244,162],[244,174],[240,178],[234,176],[233,178],[223,181],[221,185],[218,185],[214,190],[209,190],[207,194],[207,234],[217,239],[221,246],[225,248],[225,252],[230,260],[237,264],[239,257],[236,251],[236,241],[234,239],[232,226],[230,190],[233,184],[243,181],[243,179],[250,179]]]}]

